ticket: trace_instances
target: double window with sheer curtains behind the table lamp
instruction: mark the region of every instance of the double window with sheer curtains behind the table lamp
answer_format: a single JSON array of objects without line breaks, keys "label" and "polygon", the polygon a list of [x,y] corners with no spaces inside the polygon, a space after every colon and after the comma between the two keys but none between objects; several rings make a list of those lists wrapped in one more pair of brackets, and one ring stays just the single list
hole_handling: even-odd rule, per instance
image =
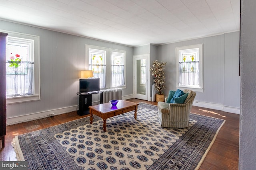
[{"label": "double window with sheer curtains behind the table lamp", "polygon": [[[94,77],[100,78],[100,88],[124,88],[126,51],[86,45],[86,63]],[[87,64],[86,64],[87,65]]]}]

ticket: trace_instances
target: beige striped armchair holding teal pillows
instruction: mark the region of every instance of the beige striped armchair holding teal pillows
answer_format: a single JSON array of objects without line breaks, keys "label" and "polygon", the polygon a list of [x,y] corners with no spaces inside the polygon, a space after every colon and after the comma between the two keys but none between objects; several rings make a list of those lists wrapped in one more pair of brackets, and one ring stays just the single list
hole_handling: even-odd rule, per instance
[{"label": "beige striped armchair holding teal pillows", "polygon": [[184,93],[188,93],[184,104],[158,102],[158,117],[162,127],[184,128],[188,127],[189,114],[196,97],[196,93],[192,90],[185,89]]}]

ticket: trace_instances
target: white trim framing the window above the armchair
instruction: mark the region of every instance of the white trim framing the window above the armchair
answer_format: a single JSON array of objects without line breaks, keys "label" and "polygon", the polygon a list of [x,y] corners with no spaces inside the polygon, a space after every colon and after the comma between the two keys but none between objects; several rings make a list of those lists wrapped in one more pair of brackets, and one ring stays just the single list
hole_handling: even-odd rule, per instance
[{"label": "white trim framing the window above the armchair", "polygon": [[[199,88],[195,88],[193,86],[189,86],[189,85],[179,85],[179,74],[180,74],[180,70],[179,70],[179,57],[180,57],[180,51],[184,51],[184,50],[191,50],[191,49],[199,49]],[[180,89],[180,90],[184,90],[184,89],[190,89],[196,92],[203,92],[204,91],[204,86],[203,86],[203,82],[204,82],[204,77],[203,77],[203,44],[197,44],[197,45],[188,45],[188,46],[184,46],[184,47],[176,47],[176,88]]]}]

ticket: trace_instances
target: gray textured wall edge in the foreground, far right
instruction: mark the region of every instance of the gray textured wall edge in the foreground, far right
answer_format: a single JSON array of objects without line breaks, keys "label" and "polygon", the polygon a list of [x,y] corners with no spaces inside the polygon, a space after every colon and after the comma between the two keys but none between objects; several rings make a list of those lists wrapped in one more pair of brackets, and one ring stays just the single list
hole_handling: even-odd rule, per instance
[{"label": "gray textured wall edge in the foreground, far right", "polygon": [[239,169],[256,167],[256,1],[241,1],[241,115]]}]

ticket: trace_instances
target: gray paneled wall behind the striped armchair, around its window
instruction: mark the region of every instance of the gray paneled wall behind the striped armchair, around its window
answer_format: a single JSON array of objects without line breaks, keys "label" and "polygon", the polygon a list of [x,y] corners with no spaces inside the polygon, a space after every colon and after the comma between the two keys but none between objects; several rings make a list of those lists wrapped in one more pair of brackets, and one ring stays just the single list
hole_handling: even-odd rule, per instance
[{"label": "gray paneled wall behind the striped armchair, around its window", "polygon": [[239,41],[233,32],[158,46],[157,59],[167,62],[165,94],[176,89],[176,47],[203,44],[204,92],[196,92],[195,101],[239,109]]}]

